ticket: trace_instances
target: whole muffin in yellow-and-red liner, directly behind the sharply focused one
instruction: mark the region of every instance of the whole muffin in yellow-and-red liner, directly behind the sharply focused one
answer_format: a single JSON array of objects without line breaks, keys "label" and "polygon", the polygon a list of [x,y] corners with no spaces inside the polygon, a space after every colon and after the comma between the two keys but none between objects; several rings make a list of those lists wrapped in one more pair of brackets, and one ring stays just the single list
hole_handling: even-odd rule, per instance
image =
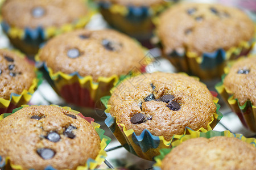
[{"label": "whole muffin in yellow-and-red liner, directly behind the sharply focused one", "polygon": [[80,29],[49,40],[36,61],[45,63],[57,93],[68,103],[94,108],[119,76],[141,72],[144,50],[110,29]]}]

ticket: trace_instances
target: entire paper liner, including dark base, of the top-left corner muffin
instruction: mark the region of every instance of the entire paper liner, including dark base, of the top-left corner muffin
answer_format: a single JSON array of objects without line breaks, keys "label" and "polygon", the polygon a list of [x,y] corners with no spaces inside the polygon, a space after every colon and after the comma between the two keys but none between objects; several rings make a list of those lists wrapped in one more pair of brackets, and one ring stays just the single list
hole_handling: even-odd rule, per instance
[{"label": "entire paper liner, including dark base, of the top-left corner muffin", "polygon": [[[2,0],[5,1],[5,0]],[[88,6],[88,0],[84,0]],[[1,3],[0,3],[1,4]],[[88,14],[77,19],[76,22],[67,23],[61,27],[37,27],[37,28],[18,28],[12,25],[9,25],[3,18],[0,16],[0,24],[3,28],[3,31],[9,37],[12,44],[19,47],[26,53],[36,53],[39,49],[39,45],[42,42],[48,40],[49,38],[59,35],[60,33],[69,32],[77,28],[84,27],[92,18],[92,15],[96,13],[96,10],[93,8],[88,9]]]}]

